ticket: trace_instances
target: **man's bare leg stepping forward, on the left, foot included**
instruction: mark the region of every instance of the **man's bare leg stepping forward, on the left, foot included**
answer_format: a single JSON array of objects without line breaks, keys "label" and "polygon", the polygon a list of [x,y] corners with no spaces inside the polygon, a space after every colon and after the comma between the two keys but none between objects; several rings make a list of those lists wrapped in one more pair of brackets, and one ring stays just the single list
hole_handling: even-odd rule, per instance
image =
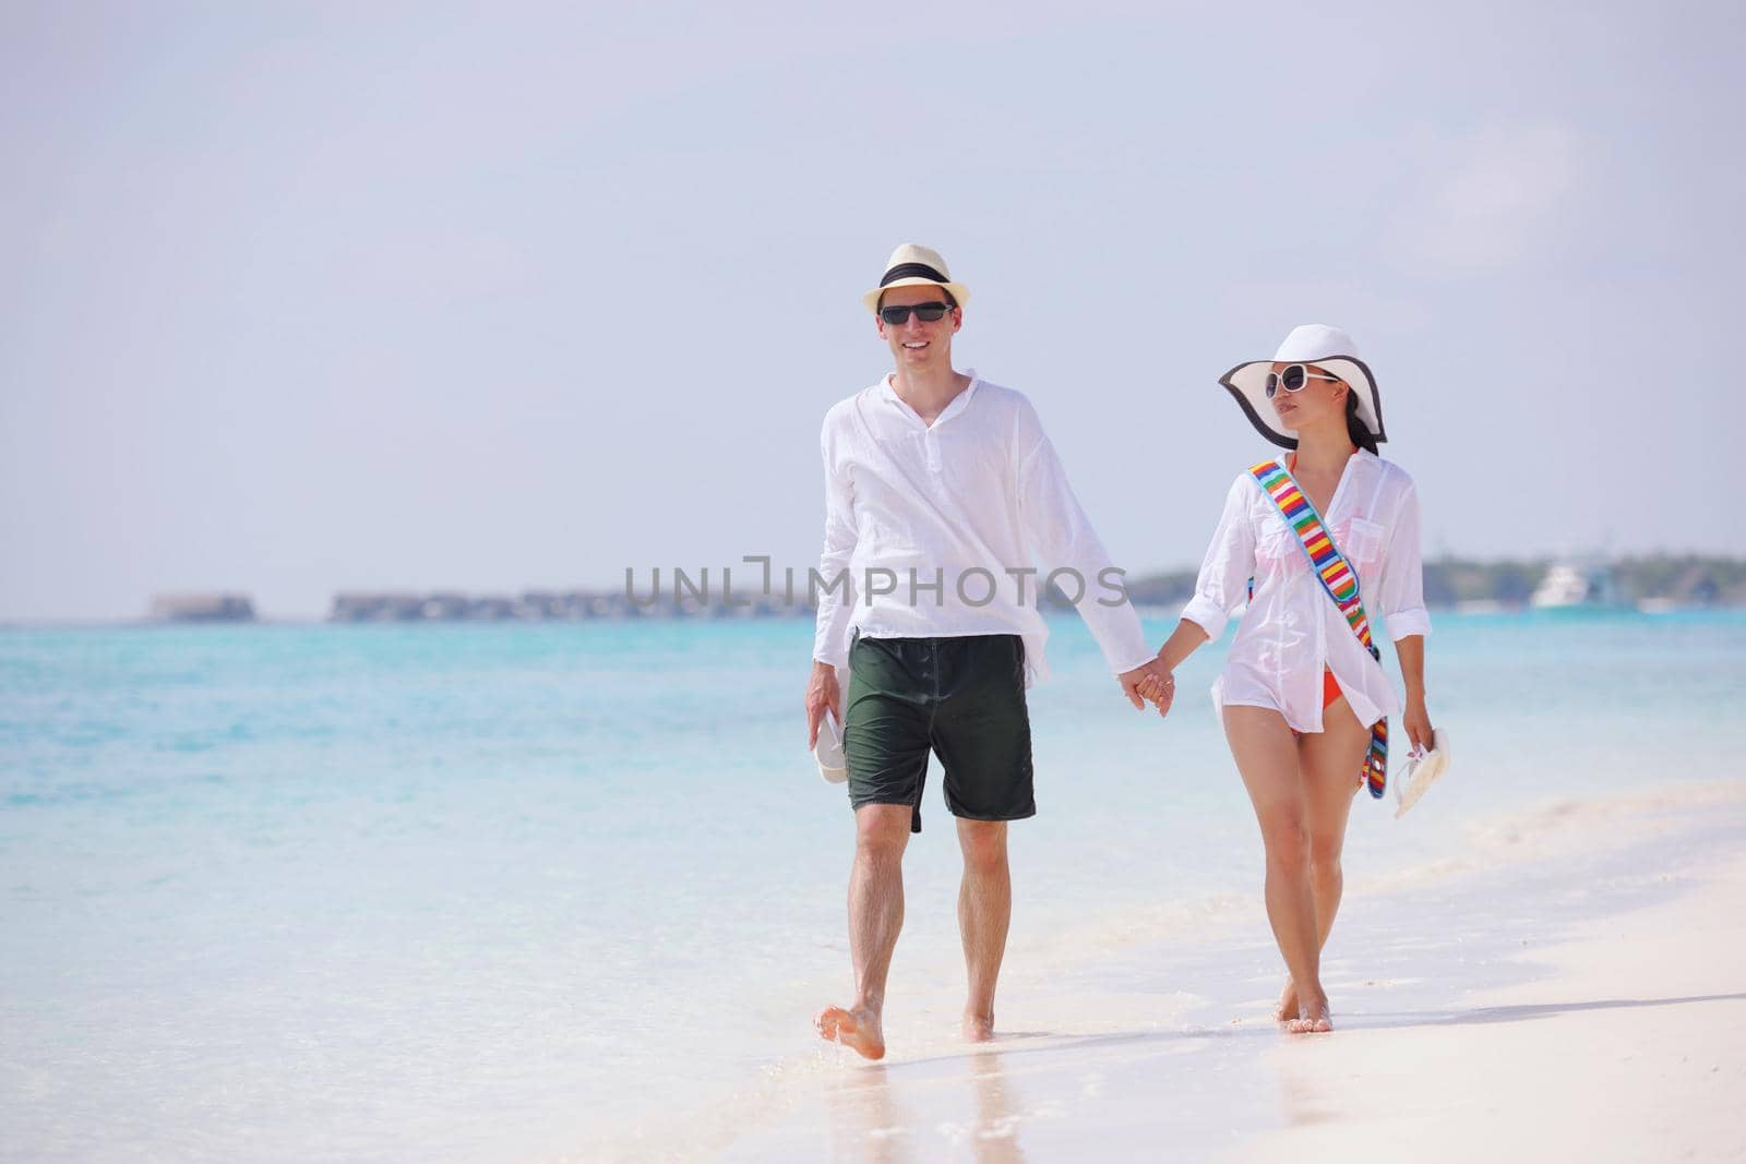
[{"label": "man's bare leg stepping forward, on the left, foot included", "polygon": [[856,998],[826,1007],[814,1019],[819,1035],[854,1047],[868,1059],[885,1056],[885,976],[903,930],[903,850],[910,843],[908,805],[856,810],[856,864],[849,874],[849,951]]}]

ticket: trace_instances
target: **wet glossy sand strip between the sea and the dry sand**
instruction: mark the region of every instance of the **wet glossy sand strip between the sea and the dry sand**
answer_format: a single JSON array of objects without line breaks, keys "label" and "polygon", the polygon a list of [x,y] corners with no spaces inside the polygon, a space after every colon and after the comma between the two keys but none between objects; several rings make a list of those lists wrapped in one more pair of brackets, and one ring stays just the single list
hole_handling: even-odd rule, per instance
[{"label": "wet glossy sand strip between the sea and the dry sand", "polygon": [[[1636,1003],[1580,989],[1547,1005],[1486,1000],[1547,976],[1542,958],[1596,920],[1701,885],[1737,860],[1743,832],[1746,782],[1563,801],[1475,839],[1474,864],[1360,892],[1327,951],[1337,1033],[1325,1038],[1653,1005],[1666,991]],[[1255,1138],[1334,1119],[1329,1094],[1350,1084],[1303,1059],[1315,1047],[1299,1044],[1323,1037],[1285,1037],[1269,1019],[1278,955],[1259,906],[1236,914],[1077,970],[1018,970],[1002,986],[1002,1007],[1021,1017],[993,1045],[969,1047],[936,1030],[908,1031],[910,1045],[882,1065],[828,1051],[786,1080],[786,1103],[721,1110],[714,1141],[650,1133],[620,1141],[608,1159],[662,1159],[677,1143],[697,1159],[735,1164],[1296,1155],[1296,1141],[1255,1155]],[[1510,1106],[1509,1096],[1481,1099]]]}]

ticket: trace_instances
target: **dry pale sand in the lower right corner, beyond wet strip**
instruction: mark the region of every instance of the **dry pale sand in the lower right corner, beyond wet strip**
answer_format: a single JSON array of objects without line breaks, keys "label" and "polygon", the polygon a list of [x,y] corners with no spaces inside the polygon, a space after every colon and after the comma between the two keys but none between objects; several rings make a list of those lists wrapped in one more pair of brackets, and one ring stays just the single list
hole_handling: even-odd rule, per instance
[{"label": "dry pale sand in the lower right corner, beyond wet strip", "polygon": [[1472,1009],[1275,1049],[1287,1126],[1236,1159],[1746,1159],[1746,859],[1535,960]]}]

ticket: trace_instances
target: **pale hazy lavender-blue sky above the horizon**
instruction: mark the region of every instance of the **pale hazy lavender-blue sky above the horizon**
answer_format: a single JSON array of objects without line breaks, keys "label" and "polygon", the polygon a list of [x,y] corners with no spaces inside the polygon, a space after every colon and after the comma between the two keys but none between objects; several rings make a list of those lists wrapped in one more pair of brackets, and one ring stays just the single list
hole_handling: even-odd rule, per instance
[{"label": "pale hazy lavender-blue sky above the horizon", "polygon": [[1746,7],[0,2],[0,620],[817,560],[892,246],[1110,551],[1350,330],[1426,555],[1746,553]]}]

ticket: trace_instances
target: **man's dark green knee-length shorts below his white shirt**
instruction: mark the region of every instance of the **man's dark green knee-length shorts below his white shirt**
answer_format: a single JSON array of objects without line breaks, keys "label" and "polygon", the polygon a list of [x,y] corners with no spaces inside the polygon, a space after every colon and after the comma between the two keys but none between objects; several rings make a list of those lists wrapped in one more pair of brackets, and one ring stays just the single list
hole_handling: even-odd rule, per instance
[{"label": "man's dark green knee-length shorts below his white shirt", "polygon": [[843,754],[849,805],[908,805],[922,831],[927,754],[946,770],[946,808],[969,820],[1037,815],[1018,635],[856,639]]}]

